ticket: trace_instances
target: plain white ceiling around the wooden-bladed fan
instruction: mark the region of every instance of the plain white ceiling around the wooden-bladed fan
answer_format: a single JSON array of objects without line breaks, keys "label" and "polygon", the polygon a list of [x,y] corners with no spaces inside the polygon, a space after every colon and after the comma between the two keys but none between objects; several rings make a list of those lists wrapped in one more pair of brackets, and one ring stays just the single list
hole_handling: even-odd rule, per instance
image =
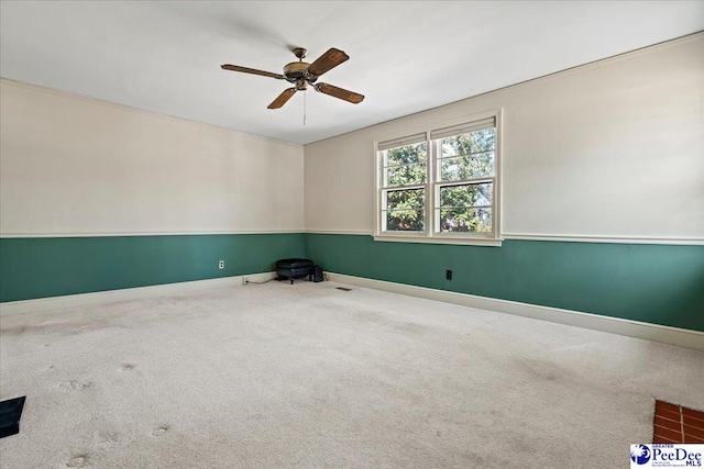
[{"label": "plain white ceiling around the wooden-bladed fan", "polygon": [[[2,1],[0,75],[299,144],[704,30],[704,1]],[[330,47],[361,104],[220,69],[280,72]]]}]

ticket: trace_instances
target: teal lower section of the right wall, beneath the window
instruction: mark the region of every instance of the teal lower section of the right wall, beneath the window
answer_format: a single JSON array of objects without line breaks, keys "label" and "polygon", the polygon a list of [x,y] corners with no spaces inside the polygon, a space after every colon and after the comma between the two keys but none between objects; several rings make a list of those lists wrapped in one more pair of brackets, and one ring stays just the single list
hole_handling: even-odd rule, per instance
[{"label": "teal lower section of the right wall, beneath the window", "polygon": [[306,234],[305,243],[306,256],[332,272],[704,332],[704,246],[482,247],[333,234]]}]

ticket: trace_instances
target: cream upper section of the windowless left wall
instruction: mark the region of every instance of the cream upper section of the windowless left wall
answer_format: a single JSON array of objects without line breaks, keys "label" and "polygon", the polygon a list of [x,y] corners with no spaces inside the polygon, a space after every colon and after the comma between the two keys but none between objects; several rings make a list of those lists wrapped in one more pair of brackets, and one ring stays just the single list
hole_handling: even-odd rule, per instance
[{"label": "cream upper section of the windowless left wall", "polygon": [[2,236],[302,231],[300,145],[0,87]]}]

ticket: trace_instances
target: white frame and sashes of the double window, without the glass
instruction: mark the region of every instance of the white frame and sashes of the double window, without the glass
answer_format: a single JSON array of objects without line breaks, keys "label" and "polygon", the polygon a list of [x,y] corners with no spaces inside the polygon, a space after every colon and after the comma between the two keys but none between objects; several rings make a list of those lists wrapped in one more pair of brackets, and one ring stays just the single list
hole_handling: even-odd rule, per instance
[{"label": "white frame and sashes of the double window, without the glass", "polygon": [[[494,176],[486,178],[477,178],[471,180],[472,183],[477,181],[493,182],[493,200],[492,200],[492,227],[491,233],[458,233],[458,232],[440,232],[439,221],[437,219],[437,208],[440,200],[440,188],[447,186],[466,185],[468,181],[441,181],[437,177],[439,165],[440,139],[431,139],[431,132],[460,125],[470,125],[473,122],[483,121],[494,118],[496,124],[495,148],[494,148]],[[418,134],[426,135],[428,148],[428,159],[426,163],[427,175],[426,183],[418,185],[425,189],[425,231],[424,232],[404,232],[404,231],[384,231],[382,213],[384,212],[384,191],[389,188],[384,187],[384,152],[380,150],[380,143],[388,143],[389,141],[403,141],[406,137]],[[465,244],[479,246],[501,246],[502,245],[502,153],[503,153],[503,129],[502,129],[502,110],[492,110],[477,113],[460,120],[442,122],[431,127],[414,129],[403,133],[388,135],[384,138],[374,141],[374,158],[376,175],[375,183],[375,223],[374,223],[374,241],[381,242],[402,242],[402,243],[435,243],[435,244]],[[414,186],[416,187],[416,186]],[[400,187],[398,189],[402,189]]]}]

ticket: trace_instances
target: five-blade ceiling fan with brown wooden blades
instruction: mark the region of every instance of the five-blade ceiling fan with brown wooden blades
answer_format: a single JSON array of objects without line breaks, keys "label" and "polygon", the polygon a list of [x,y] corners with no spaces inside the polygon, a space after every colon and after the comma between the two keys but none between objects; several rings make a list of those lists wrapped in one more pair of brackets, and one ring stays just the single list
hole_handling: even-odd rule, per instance
[{"label": "five-blade ceiling fan with brown wooden blades", "polygon": [[283,75],[257,70],[254,68],[240,67],[239,65],[230,64],[221,65],[220,68],[222,68],[223,70],[242,71],[244,74],[272,77],[278,80],[286,80],[295,85],[292,88],[285,89],[284,92],[282,92],[274,101],[272,101],[272,103],[267,107],[268,109],[278,109],[282,105],[286,104],[286,101],[288,101],[290,97],[296,93],[296,91],[306,91],[306,89],[308,89],[308,85],[310,85],[318,92],[329,94],[333,98],[338,98],[353,104],[359,104],[360,102],[362,102],[362,100],[364,99],[363,94],[348,91],[332,85],[316,82],[322,74],[349,59],[350,56],[348,56],[345,53],[332,47],[320,57],[318,57],[318,59],[316,59],[316,62],[314,62],[312,64],[304,62],[304,58],[306,58],[306,55],[308,54],[308,51],[306,51],[305,48],[296,47],[293,49],[293,53],[296,57],[298,57],[298,62],[286,64]]}]

